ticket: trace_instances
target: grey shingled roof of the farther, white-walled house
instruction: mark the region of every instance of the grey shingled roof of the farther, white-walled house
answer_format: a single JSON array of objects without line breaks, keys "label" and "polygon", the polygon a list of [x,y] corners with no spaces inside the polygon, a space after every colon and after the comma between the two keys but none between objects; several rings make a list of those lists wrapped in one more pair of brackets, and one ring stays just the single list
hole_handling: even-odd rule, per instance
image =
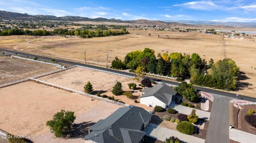
[{"label": "grey shingled roof of the farther, white-walled house", "polygon": [[154,96],[165,104],[168,104],[172,96],[177,94],[177,91],[165,83],[159,83],[153,87],[145,88],[141,92],[144,92],[144,94],[140,98]]}]

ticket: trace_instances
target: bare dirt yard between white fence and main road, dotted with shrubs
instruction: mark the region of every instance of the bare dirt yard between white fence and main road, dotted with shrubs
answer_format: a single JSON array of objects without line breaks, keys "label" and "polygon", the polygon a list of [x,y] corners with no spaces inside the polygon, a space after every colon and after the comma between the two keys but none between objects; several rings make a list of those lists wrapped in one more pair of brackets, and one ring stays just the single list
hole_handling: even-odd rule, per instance
[{"label": "bare dirt yard between white fence and main road, dotted with shrubs", "polygon": [[[88,81],[90,81],[92,83],[94,90],[93,94],[97,94],[97,92],[100,91],[101,95],[105,94],[107,96],[114,96],[111,90],[113,89],[117,81],[122,83],[124,91],[130,90],[127,85],[128,83],[134,82],[137,84],[137,87],[139,85],[139,82],[133,80],[132,78],[83,68],[73,68],[63,72],[51,74],[39,79],[50,83],[54,83],[55,85],[60,85],[63,87],[68,87],[79,91],[83,91],[84,85]],[[138,87],[138,89],[140,88]],[[140,96],[140,91],[135,90],[135,93],[133,95]],[[114,97],[115,99],[122,100],[122,102],[126,104],[141,106],[143,108],[151,110],[151,107],[147,107],[146,105],[142,105],[139,103],[134,103],[133,99],[128,99],[124,95]],[[139,101],[139,98],[137,100]]]}]

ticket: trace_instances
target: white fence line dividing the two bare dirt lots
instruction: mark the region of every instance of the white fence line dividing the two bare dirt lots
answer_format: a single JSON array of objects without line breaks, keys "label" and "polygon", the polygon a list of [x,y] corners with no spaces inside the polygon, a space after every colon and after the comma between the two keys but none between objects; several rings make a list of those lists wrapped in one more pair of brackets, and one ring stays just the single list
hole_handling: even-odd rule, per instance
[{"label": "white fence line dividing the two bare dirt lots", "polygon": [[53,83],[49,83],[49,82],[46,82],[46,81],[42,81],[42,80],[38,80],[38,79],[34,79],[34,78],[29,78],[29,79],[33,80],[33,81],[36,81],[36,82],[39,82],[39,83],[43,83],[44,85],[47,85],[47,86],[52,86],[52,87],[55,87],[55,88],[66,90],[66,91],[75,92],[77,94],[80,94],[80,95],[83,95],[83,96],[87,96],[87,97],[90,97],[92,99],[103,100],[103,101],[106,101],[106,102],[109,102],[109,103],[113,103],[113,104],[117,104],[117,105],[121,105],[121,106],[129,106],[129,105],[121,103],[121,102],[116,102],[115,100],[109,100],[109,99],[106,99],[106,98],[102,98],[102,97],[98,97],[98,96],[95,96],[95,95],[87,94],[87,93],[82,92],[82,91],[77,91],[75,89],[70,89],[70,88],[67,88],[67,87],[62,87],[62,86],[59,86],[59,85],[54,85]]}]

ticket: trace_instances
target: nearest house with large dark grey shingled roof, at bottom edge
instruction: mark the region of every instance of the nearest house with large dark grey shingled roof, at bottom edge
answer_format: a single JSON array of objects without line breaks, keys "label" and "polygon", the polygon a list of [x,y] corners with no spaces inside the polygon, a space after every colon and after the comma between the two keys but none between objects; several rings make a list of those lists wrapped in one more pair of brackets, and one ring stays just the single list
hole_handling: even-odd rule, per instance
[{"label": "nearest house with large dark grey shingled roof, at bottom edge", "polygon": [[104,120],[99,120],[89,128],[85,140],[103,143],[140,143],[143,130],[151,120],[152,114],[141,107],[121,107]]}]

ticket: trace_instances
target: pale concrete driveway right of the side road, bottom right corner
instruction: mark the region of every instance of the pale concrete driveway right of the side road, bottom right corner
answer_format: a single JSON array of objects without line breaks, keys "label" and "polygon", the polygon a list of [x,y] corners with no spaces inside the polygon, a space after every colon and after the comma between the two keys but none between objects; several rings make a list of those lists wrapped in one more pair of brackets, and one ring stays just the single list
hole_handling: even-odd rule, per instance
[{"label": "pale concrete driveway right of the side road, bottom right corner", "polygon": [[251,143],[256,141],[256,135],[237,129],[229,129],[229,139],[243,143]]}]

